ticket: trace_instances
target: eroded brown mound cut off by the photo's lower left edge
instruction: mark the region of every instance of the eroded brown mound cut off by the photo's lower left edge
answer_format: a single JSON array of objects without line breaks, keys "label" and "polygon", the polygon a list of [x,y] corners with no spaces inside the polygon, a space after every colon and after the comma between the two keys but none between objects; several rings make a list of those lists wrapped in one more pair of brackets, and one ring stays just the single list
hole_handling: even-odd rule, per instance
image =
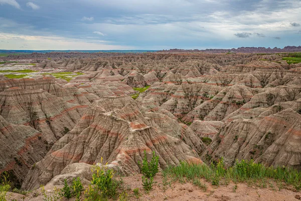
[{"label": "eroded brown mound cut off by the photo's lower left edge", "polygon": [[16,187],[50,149],[43,135],[29,126],[8,123],[0,116],[0,172],[8,171]]}]

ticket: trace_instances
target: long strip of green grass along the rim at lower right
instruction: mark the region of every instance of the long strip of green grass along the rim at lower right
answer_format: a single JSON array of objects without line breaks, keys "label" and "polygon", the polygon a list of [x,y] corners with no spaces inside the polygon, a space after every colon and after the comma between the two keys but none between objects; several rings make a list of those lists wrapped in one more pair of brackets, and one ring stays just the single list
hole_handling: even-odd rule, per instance
[{"label": "long strip of green grass along the rim at lower right", "polygon": [[[195,178],[203,178],[212,185],[229,184],[232,180],[236,182],[247,182],[248,185],[255,184],[266,187],[268,180],[277,182],[280,186],[285,183],[292,185],[296,190],[301,188],[301,172],[286,167],[265,167],[253,160],[236,161],[232,167],[225,168],[223,158],[219,162],[211,163],[210,166],[200,164],[188,164],[181,162],[179,166],[169,166],[163,175],[180,182],[193,181]],[[280,189],[280,186],[279,189]]]}]

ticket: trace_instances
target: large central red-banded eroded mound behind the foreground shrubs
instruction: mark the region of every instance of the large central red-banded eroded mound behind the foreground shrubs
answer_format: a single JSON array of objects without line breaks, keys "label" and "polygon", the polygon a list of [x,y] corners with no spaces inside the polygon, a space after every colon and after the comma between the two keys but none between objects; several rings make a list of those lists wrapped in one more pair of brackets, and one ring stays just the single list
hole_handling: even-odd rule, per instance
[{"label": "large central red-banded eroded mound behind the foreground shrubs", "polygon": [[[109,167],[118,166],[125,175],[139,173],[138,161],[143,152],[159,156],[160,167],[177,165],[180,161],[202,163],[197,151],[205,145],[186,125],[167,131],[164,114],[153,114],[129,96],[102,98],[90,106],[75,128],[59,140],[36,167],[30,170],[24,189],[46,184],[72,163],[96,164],[103,160]],[[183,136],[182,136],[183,132]],[[179,136],[176,136],[179,135]],[[186,140],[185,140],[186,139]],[[196,147],[193,151],[187,143]]]}]

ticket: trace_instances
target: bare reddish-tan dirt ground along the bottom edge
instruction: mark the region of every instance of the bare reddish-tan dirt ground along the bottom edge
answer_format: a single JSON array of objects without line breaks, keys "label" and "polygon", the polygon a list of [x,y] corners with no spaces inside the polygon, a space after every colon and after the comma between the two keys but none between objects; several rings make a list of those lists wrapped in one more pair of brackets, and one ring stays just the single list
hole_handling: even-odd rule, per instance
[{"label": "bare reddish-tan dirt ground along the bottom edge", "polygon": [[[156,175],[154,179],[155,183],[153,189],[146,193],[142,187],[141,174],[134,176],[123,177],[124,188],[127,192],[127,200],[180,200],[180,201],[192,201],[192,200],[208,200],[208,201],[228,201],[228,200],[299,200],[298,196],[301,196],[301,192],[296,192],[292,187],[285,186],[282,189],[278,189],[267,184],[266,188],[259,188],[256,186],[248,187],[246,183],[229,183],[229,185],[212,186],[209,182],[206,183],[207,190],[192,184],[191,182],[179,183],[172,182],[171,185],[163,185],[163,176]],[[61,188],[63,186],[57,186]],[[139,189],[139,196],[136,197],[133,194],[133,189]],[[236,189],[235,189],[236,188]],[[54,186],[45,186],[47,191],[54,189]],[[83,194],[83,193],[82,193]],[[27,195],[21,195],[17,193],[8,193],[8,200],[43,200],[41,189],[32,191]],[[65,198],[58,200],[67,200]],[[70,201],[75,198],[70,198]],[[84,196],[82,199],[84,200]],[[118,200],[118,199],[117,199]]]}]

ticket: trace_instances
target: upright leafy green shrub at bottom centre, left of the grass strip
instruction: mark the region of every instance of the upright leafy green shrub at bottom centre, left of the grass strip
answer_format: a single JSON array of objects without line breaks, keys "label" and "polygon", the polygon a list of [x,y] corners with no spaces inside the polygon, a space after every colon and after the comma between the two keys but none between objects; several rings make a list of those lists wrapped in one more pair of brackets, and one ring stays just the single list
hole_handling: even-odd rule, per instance
[{"label": "upright leafy green shrub at bottom centre, left of the grass strip", "polygon": [[153,177],[156,175],[156,173],[159,171],[158,169],[159,164],[159,156],[156,156],[155,151],[153,151],[153,157],[150,160],[150,162],[147,161],[146,157],[146,151],[144,150],[144,158],[142,160],[142,164],[138,162],[138,165],[140,166],[141,172],[144,176],[147,178]]}]

